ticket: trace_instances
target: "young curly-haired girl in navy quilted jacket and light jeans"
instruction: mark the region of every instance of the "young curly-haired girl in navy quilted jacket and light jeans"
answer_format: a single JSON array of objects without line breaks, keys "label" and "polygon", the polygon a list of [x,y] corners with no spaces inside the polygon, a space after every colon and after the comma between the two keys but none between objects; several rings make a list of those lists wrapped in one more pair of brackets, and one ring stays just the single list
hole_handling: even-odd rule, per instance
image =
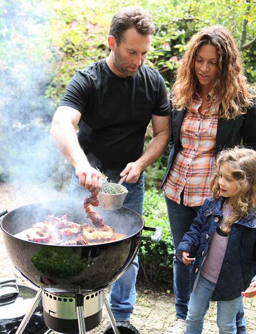
[{"label": "young curly-haired girl in navy quilted jacket and light jeans", "polygon": [[191,273],[185,334],[201,333],[209,301],[217,301],[221,334],[235,334],[236,315],[256,274],[256,152],[224,150],[218,155],[210,189],[193,225],[177,248]]}]

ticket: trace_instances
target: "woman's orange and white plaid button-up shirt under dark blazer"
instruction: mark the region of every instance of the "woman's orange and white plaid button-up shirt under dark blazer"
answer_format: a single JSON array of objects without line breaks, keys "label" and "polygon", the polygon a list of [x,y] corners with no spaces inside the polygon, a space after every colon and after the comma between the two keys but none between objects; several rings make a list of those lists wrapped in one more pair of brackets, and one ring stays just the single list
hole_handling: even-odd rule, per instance
[{"label": "woman's orange and white plaid button-up shirt under dark blazer", "polygon": [[177,203],[180,203],[180,194],[184,189],[185,206],[201,206],[210,194],[209,181],[215,162],[219,114],[217,95],[211,106],[211,115],[208,114],[210,94],[207,95],[207,109],[200,115],[198,108],[203,99],[196,92],[191,110],[186,112],[182,122],[181,149],[163,187],[165,195]]}]

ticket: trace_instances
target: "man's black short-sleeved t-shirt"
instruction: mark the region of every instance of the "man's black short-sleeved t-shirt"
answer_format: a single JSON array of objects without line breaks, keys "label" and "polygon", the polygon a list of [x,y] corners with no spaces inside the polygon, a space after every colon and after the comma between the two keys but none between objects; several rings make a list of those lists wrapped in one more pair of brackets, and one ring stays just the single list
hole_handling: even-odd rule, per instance
[{"label": "man's black short-sleeved t-shirt", "polygon": [[120,78],[105,59],[74,75],[60,105],[81,113],[78,140],[90,164],[116,177],[142,155],[152,114],[169,115],[167,89],[156,69],[143,65],[136,75]]}]

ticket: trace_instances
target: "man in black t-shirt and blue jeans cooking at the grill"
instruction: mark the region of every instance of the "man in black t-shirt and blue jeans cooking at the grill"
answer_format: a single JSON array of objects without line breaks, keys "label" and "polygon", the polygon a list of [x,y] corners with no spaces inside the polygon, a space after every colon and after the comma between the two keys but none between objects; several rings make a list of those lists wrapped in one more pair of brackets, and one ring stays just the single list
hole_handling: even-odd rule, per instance
[{"label": "man in black t-shirt and blue jeans cooking at the grill", "polygon": [[[82,200],[101,189],[101,173],[112,182],[127,175],[123,206],[143,212],[145,168],[169,140],[169,102],[159,72],[143,65],[155,26],[151,14],[132,6],[117,12],[108,37],[110,55],[78,71],[70,81],[53,121],[51,134],[74,167],[72,199]],[[152,120],[153,138],[143,153]],[[76,135],[75,128],[79,132]],[[130,323],[136,301],[138,256],[111,286],[110,306],[116,321]]]}]

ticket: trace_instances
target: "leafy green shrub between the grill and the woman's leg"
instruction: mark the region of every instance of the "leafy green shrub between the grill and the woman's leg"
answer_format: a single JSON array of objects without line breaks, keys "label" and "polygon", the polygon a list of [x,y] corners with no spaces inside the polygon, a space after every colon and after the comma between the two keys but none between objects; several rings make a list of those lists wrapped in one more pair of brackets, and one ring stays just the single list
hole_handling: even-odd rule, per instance
[{"label": "leafy green shrub between the grill and the woman's leg", "polygon": [[[139,248],[139,275],[144,275],[147,281],[159,281],[171,284],[173,282],[174,246],[170,235],[167,209],[162,194],[156,190],[148,190],[144,197],[145,226],[163,228],[163,236],[158,244],[151,244],[141,240]],[[152,235],[153,232],[143,231],[143,235]]]}]

